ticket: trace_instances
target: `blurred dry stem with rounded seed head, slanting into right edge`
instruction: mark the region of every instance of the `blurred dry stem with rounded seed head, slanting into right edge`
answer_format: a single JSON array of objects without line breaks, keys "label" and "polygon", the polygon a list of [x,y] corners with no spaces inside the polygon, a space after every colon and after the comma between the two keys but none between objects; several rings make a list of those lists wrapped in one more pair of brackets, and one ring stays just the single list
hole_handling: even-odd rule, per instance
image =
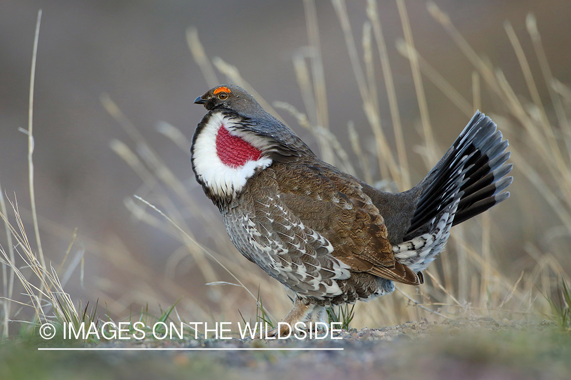
[{"label": "blurred dry stem with rounded seed head, slanting into right edge", "polygon": [[555,79],[551,73],[551,68],[549,67],[549,62],[547,60],[547,56],[545,55],[543,44],[541,43],[541,35],[537,30],[537,21],[533,14],[529,13],[527,15],[525,18],[525,26],[528,29],[530,37],[532,38],[533,48],[536,52],[537,60],[539,61],[541,73],[544,77],[545,83],[547,84],[547,89],[549,91],[553,109],[555,110],[555,115],[557,116],[559,126],[564,133],[568,153],[571,154],[571,124],[569,124],[569,120],[565,114],[565,108],[561,104],[561,99],[559,99],[554,91],[553,83]]}]

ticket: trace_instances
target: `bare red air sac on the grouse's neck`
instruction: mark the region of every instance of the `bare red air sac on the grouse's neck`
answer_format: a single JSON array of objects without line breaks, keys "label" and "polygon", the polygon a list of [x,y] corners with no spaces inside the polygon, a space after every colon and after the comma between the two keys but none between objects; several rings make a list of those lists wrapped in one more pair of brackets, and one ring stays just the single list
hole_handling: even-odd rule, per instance
[{"label": "bare red air sac on the grouse's neck", "polygon": [[226,166],[240,167],[248,161],[256,161],[262,151],[238,136],[232,136],[224,125],[216,134],[216,154]]}]

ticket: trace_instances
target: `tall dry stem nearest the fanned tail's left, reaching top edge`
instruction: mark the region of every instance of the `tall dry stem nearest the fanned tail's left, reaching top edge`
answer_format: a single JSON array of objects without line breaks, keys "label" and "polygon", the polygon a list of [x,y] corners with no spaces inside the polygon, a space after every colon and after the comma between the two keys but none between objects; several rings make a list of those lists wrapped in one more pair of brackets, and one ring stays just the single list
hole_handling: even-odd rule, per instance
[{"label": "tall dry stem nearest the fanned tail's left, reaching top edge", "polygon": [[[407,42],[407,46],[415,48],[415,42],[412,38],[411,23],[408,19],[407,8],[404,5],[404,0],[396,0],[396,5],[399,9],[400,22],[403,24],[404,39]],[[415,48],[416,49],[416,48]],[[436,142],[434,140],[432,126],[430,123],[430,117],[428,115],[428,104],[426,100],[426,95],[424,93],[423,79],[420,76],[419,62],[416,58],[416,54],[411,52],[411,63],[412,79],[415,82],[416,99],[419,102],[420,109],[420,119],[423,124],[424,133],[424,143],[427,147],[428,153],[428,166],[431,167],[436,160],[440,157],[438,156]],[[432,164],[431,164],[432,163]]]}]

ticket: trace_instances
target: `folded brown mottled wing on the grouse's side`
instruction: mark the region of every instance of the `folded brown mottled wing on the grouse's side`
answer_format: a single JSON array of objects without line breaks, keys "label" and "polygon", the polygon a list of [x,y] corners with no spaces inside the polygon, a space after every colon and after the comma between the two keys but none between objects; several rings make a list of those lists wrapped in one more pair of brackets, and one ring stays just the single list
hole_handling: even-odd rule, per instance
[{"label": "folded brown mottled wing on the grouse's side", "polygon": [[421,283],[416,273],[395,261],[383,216],[355,178],[315,161],[288,165],[287,171],[273,170],[281,199],[304,224],[331,242],[335,258],[352,272]]}]

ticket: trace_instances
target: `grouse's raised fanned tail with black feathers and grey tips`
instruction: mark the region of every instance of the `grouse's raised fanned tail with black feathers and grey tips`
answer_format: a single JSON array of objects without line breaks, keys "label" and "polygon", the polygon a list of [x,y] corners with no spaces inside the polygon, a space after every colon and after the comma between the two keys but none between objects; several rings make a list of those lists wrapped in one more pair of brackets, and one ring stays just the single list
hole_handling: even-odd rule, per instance
[{"label": "grouse's raised fanned tail with black feathers and grey tips", "polygon": [[444,157],[417,185],[422,189],[404,242],[393,247],[400,263],[425,269],[443,250],[450,228],[505,201],[512,183],[508,141],[476,112]]}]

